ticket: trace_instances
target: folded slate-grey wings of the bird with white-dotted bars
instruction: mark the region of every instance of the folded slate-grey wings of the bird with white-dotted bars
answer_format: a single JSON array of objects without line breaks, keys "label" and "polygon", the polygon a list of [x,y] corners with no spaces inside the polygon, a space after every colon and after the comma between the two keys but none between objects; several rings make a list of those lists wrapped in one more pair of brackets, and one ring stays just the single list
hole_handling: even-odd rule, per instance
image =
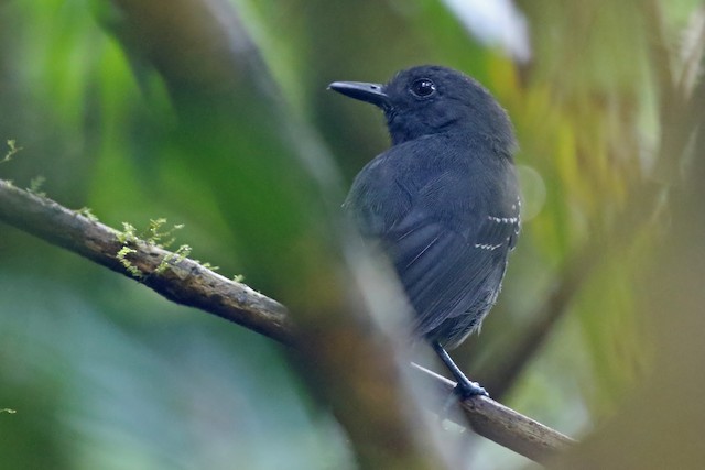
[{"label": "folded slate-grey wings of the bird with white-dotted bars", "polygon": [[362,236],[380,241],[390,256],[417,314],[416,332],[432,336],[448,318],[481,316],[496,299],[519,232],[516,197],[490,204],[492,196],[468,189],[457,168],[431,172],[415,185],[394,177],[389,163],[373,161],[360,173],[346,208]]}]

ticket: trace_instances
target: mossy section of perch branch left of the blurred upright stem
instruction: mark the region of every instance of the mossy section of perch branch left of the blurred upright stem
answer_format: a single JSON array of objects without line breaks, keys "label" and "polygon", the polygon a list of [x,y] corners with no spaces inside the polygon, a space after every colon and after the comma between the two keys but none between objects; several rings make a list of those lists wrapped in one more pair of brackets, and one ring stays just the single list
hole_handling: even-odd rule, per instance
[{"label": "mossy section of perch branch left of the blurred upright stem", "polygon": [[[0,220],[65,248],[115,272],[133,277],[116,256],[126,244],[119,231],[78,211],[14,187],[0,179]],[[128,244],[127,259],[143,275],[140,283],[181,305],[195,307],[285,345],[293,341],[293,324],[276,300],[229,281],[193,260],[144,241]],[[173,260],[160,274],[162,260]]]}]

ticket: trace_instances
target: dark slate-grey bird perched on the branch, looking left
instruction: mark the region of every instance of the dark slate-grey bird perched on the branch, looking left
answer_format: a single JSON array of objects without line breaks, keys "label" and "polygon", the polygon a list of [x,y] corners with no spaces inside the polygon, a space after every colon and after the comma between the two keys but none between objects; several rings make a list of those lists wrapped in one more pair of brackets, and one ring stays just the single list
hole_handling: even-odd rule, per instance
[{"label": "dark slate-grey bird perched on the branch, looking left", "polygon": [[508,113],[478,81],[438,65],[328,88],[380,108],[391,138],[355,177],[345,214],[393,265],[412,337],[429,341],[463,398],[489,396],[447,351],[480,329],[521,230]]}]

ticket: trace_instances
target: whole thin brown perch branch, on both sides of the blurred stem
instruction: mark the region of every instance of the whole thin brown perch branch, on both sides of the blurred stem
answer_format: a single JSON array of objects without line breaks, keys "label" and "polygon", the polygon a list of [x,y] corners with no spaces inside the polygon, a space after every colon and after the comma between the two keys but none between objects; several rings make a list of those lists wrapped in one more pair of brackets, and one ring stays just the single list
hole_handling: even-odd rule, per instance
[{"label": "whole thin brown perch branch, on both sides of the blurred stem", "polygon": [[[276,300],[145,241],[126,244],[120,241],[119,231],[1,179],[0,220],[133,277],[116,255],[127,245],[134,250],[127,259],[142,273],[138,281],[154,292],[295,347],[293,324],[286,308]],[[163,263],[166,269],[162,270]],[[444,393],[451,393],[455,385],[423,368],[416,365],[415,369],[430,386]],[[538,462],[547,461],[574,442],[484,396],[467,398],[462,407],[476,433]]]}]

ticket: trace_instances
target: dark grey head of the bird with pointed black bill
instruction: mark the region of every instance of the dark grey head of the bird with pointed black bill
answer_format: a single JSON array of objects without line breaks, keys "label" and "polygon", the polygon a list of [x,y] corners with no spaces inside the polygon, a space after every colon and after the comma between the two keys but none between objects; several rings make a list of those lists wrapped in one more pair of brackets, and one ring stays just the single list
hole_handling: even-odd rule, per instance
[{"label": "dark grey head of the bird with pointed black bill", "polygon": [[328,88],[384,111],[393,144],[462,132],[512,153],[507,112],[480,84],[452,68],[424,65],[398,73],[387,85],[334,81]]}]

